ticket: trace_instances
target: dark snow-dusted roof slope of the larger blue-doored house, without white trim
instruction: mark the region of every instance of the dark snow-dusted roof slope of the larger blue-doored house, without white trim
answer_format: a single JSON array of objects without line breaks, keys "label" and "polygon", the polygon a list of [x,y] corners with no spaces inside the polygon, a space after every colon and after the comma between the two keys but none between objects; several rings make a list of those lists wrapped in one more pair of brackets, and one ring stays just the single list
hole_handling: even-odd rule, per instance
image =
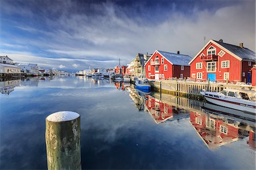
[{"label": "dark snow-dusted roof slope of the larger blue-doored house, without white trim", "polygon": [[228,49],[230,52],[233,52],[235,55],[241,57],[242,59],[256,60],[255,52],[251,51],[248,48],[241,48],[237,45],[227,44],[216,40],[213,41]]}]

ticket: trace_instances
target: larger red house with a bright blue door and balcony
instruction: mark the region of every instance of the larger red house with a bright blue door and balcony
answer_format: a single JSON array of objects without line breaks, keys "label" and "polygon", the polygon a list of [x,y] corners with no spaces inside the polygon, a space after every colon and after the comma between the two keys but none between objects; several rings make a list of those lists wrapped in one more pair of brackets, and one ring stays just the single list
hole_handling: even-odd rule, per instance
[{"label": "larger red house with a bright blue door and balcony", "polygon": [[210,81],[251,82],[255,52],[248,48],[209,40],[189,62],[191,78]]}]

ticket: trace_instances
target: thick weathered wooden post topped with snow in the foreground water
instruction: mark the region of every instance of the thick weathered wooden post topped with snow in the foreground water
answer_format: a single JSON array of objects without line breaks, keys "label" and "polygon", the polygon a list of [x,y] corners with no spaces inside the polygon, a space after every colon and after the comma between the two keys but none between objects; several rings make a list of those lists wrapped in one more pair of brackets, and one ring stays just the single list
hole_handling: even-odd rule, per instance
[{"label": "thick weathered wooden post topped with snow in the foreground water", "polygon": [[48,169],[81,169],[80,115],[59,111],[46,118]]}]

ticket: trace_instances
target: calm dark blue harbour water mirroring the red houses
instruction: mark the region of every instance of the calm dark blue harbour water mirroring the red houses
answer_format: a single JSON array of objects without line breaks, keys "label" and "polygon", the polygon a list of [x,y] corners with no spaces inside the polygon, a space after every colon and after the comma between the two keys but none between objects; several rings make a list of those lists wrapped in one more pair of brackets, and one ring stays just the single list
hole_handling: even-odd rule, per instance
[{"label": "calm dark blue harbour water mirroring the red houses", "polygon": [[255,169],[255,123],[200,102],[84,77],[0,84],[0,169],[46,169],[45,118],[62,110],[81,115],[82,169]]}]

